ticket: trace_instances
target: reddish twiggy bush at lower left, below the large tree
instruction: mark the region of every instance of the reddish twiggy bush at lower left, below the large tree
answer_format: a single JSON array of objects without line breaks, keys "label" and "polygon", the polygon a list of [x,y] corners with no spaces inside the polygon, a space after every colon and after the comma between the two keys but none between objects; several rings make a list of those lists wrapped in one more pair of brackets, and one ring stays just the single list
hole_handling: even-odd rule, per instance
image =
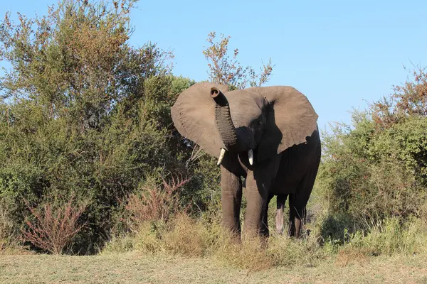
[{"label": "reddish twiggy bush at lower left, below the large tree", "polygon": [[43,204],[43,209],[33,208],[28,204],[33,222],[27,220],[28,228],[22,230],[23,241],[50,253],[60,254],[70,245],[75,234],[85,226],[78,219],[85,211],[86,204],[75,204],[73,197],[60,206]]}]

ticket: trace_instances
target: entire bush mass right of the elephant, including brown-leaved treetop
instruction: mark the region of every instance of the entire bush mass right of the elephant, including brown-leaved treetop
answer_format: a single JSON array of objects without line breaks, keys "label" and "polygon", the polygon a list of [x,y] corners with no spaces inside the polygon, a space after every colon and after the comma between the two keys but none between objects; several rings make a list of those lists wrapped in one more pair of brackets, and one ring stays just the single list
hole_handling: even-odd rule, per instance
[{"label": "entire bush mass right of the elephant, including brown-leaved treetop", "polygon": [[[370,230],[385,218],[423,218],[427,202],[425,73],[394,87],[367,111],[353,112],[353,126],[324,136],[318,189],[330,214],[347,214],[348,229]],[[394,102],[391,104],[391,102]],[[342,219],[342,220],[344,220]],[[347,222],[349,224],[349,222]],[[332,223],[329,223],[332,224]],[[326,234],[332,236],[332,231]]]}]

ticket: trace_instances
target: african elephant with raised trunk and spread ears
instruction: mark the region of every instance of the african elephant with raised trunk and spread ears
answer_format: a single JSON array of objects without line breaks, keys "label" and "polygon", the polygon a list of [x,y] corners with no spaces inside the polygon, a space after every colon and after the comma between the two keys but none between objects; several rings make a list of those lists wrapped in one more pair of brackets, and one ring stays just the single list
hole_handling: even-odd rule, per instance
[{"label": "african elephant with raised trunk and spread ears", "polygon": [[289,196],[288,234],[300,236],[321,155],[318,116],[303,94],[287,86],[228,92],[202,82],[179,94],[171,114],[182,136],[218,158],[223,225],[240,236],[246,187],[245,234],[268,236],[268,203],[277,195],[276,229],[283,230]]}]

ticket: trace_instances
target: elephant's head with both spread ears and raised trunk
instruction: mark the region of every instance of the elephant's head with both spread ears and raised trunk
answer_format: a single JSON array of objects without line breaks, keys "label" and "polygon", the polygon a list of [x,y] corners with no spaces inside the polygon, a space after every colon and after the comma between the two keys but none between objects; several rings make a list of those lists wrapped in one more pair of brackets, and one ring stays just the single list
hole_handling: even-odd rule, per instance
[{"label": "elephant's head with both spread ears and raised trunk", "polygon": [[[317,130],[317,114],[293,87],[251,87],[227,92],[208,82],[182,92],[172,107],[179,133],[221,163],[225,151],[253,164],[304,143]],[[243,155],[243,153],[248,153]]]}]

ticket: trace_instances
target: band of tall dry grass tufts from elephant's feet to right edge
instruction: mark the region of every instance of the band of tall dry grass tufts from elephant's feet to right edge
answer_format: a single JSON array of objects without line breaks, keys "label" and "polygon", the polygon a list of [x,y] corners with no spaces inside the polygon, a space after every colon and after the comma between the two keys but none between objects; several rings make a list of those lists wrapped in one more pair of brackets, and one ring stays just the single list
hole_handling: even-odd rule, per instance
[{"label": "band of tall dry grass tufts from elephant's feet to right edge", "polygon": [[325,259],[334,259],[337,266],[346,267],[368,262],[372,256],[427,255],[426,247],[427,225],[421,219],[407,224],[389,219],[366,236],[349,235],[344,245],[333,242],[322,245],[315,226],[310,236],[299,240],[273,234],[264,242],[246,239],[236,244],[219,222],[178,214],[169,222],[142,223],[137,234],[113,240],[102,253],[135,250],[152,256],[204,257],[223,266],[264,271],[317,266]]}]

